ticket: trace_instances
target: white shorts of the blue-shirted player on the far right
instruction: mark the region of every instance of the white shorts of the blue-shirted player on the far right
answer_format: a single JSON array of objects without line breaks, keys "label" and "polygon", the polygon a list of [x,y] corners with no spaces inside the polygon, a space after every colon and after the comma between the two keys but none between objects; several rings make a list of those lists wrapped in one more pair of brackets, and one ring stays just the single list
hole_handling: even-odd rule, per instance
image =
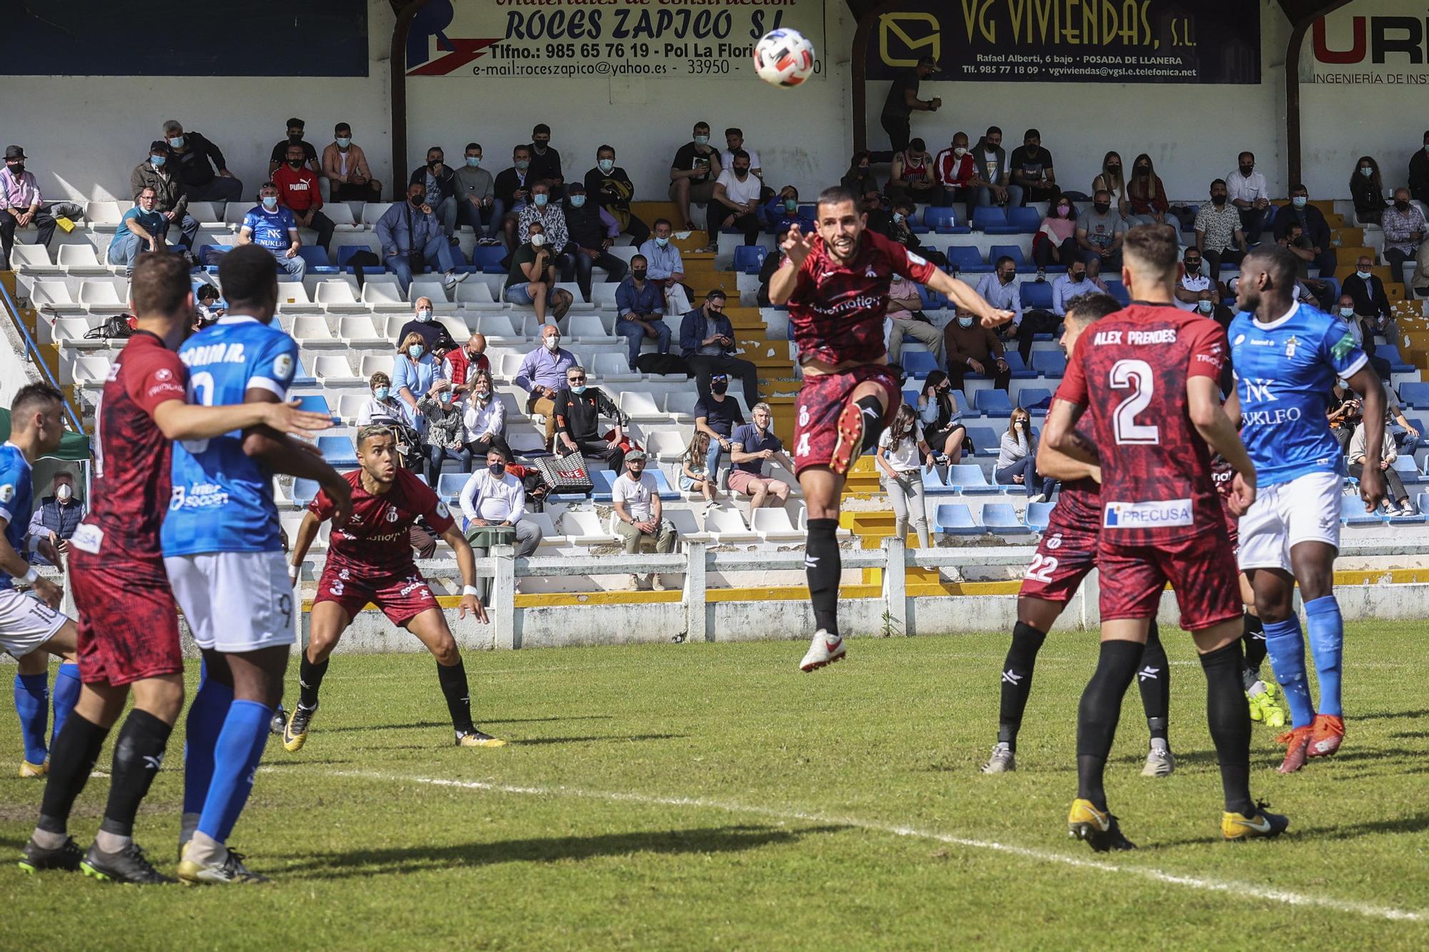
[{"label": "white shorts of the blue-shirted player on the far right", "polygon": [[1240,570],[1290,570],[1290,549],[1323,542],[1339,550],[1339,473],[1306,473],[1288,483],[1256,490],[1250,512],[1240,516]]}]

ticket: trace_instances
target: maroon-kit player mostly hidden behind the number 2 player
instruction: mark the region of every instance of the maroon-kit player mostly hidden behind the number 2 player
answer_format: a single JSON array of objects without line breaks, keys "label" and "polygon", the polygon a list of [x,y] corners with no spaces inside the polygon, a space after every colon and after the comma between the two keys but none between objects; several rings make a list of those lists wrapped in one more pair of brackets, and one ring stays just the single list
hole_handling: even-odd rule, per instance
[{"label": "maroon-kit player mostly hidden behind the number 2 player", "polygon": [[[1062,347],[1072,353],[1077,337],[1093,322],[1120,310],[1115,297],[1085,294],[1067,307],[1063,322]],[[1002,703],[997,716],[997,743],[983,765],[983,773],[1006,773],[1017,769],[1017,732],[1032,693],[1032,672],[1037,652],[1053,622],[1076,595],[1082,579],[1096,567],[1096,540],[1102,532],[1100,472],[1096,466],[1077,462],[1043,443],[1037,447],[1037,472],[1062,480],[1057,505],[1042,533],[1037,552],[1022,579],[1017,592],[1017,623],[1012,629],[1012,645],[1002,668]],[[1160,643],[1156,623],[1147,632],[1136,672],[1146,726],[1150,729],[1150,750],[1142,776],[1170,776],[1176,758],[1166,736],[1170,708],[1170,666]]]}]

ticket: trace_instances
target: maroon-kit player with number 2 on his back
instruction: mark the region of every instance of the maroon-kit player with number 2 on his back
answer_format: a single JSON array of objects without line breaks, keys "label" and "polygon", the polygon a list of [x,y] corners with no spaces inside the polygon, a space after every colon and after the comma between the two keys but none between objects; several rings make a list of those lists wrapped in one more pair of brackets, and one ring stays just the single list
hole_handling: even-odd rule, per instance
[{"label": "maroon-kit player with number 2 on his back", "polygon": [[[1255,467],[1220,403],[1226,332],[1175,306],[1176,232],[1127,232],[1122,280],[1132,304],[1082,334],[1047,415],[1045,440],[1102,467],[1102,652],[1077,712],[1077,796],[1069,832],[1092,849],[1132,849],[1102,775],[1122,696],[1169,580],[1206,672],[1226,839],[1276,836],[1289,820],[1250,798],[1250,713],[1240,688],[1240,586],[1210,477],[1212,450],[1235,470],[1230,512],[1255,502]],[[1076,430],[1090,410],[1092,436]]]}]

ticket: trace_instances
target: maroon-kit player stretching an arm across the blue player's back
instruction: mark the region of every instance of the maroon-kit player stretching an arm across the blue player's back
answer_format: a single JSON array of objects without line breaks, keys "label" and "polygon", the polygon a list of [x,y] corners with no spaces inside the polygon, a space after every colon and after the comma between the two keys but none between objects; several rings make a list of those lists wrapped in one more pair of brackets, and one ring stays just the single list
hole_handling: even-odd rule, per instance
[{"label": "maroon-kit player stretching an arm across the blue player's back", "polygon": [[[149,863],[133,828],[183,708],[179,608],[159,546],[173,440],[256,426],[303,433],[326,429],[332,419],[302,412],[296,402],[189,403],[187,372],[174,353],[193,324],[189,266],[177,254],[140,254],[130,294],[139,317],[104,383],[96,412],[91,509],[70,539],[83,686],[50,755],[40,823],[20,868],[83,866],[99,879],[157,883],[173,881]],[[66,832],[70,808],[130,695],[134,706],[114,743],[104,820],[81,856]]]}]

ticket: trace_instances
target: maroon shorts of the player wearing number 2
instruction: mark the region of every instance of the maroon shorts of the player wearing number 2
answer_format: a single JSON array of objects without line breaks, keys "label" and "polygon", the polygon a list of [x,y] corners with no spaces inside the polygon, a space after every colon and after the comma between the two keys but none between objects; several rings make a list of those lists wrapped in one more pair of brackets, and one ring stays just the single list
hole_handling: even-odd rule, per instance
[{"label": "maroon shorts of the player wearing number 2", "polygon": [[1225,526],[1193,539],[1127,546],[1102,535],[1102,620],[1155,618],[1170,582],[1180,606],[1180,626],[1199,632],[1240,618],[1240,579]]}]

